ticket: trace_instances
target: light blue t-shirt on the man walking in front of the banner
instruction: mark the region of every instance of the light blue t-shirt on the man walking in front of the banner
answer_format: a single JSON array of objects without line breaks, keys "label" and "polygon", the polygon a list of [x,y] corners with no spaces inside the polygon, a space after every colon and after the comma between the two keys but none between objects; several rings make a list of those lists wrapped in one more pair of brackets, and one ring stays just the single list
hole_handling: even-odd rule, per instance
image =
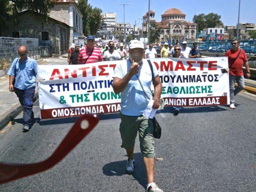
[{"label": "light blue t-shirt on the man walking in front of the banner", "polygon": [[[154,77],[158,75],[158,71],[156,66],[153,64],[153,73]],[[131,67],[131,62],[129,59],[127,60],[127,64],[124,63],[117,64],[115,67],[113,77],[118,77],[123,79],[124,76],[128,73]],[[137,73],[142,86],[147,94],[147,96],[151,99],[151,82],[152,82],[152,73],[150,70],[150,66],[148,62],[143,59],[142,64],[139,67],[139,72]],[[147,104],[149,103],[149,99],[147,99],[145,93],[143,92],[139,80],[136,75],[132,76],[131,80],[129,80],[127,86],[120,93],[121,95],[121,113],[123,115],[129,116],[139,116],[145,111]]]}]

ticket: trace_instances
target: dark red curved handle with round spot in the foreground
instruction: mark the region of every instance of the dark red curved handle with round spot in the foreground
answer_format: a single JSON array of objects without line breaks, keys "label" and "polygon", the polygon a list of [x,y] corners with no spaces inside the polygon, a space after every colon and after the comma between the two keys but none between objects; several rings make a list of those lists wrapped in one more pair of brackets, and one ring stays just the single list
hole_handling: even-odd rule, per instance
[{"label": "dark red curved handle with round spot in the foreground", "polygon": [[99,118],[96,115],[80,117],[53,154],[42,162],[32,164],[0,163],[0,184],[50,169],[82,141],[98,122]]}]

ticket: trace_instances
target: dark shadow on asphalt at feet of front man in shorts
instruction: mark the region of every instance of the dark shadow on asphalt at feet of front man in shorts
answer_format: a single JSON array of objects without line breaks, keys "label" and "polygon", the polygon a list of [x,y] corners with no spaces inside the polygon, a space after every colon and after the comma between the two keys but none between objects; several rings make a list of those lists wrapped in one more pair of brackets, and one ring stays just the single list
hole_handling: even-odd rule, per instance
[{"label": "dark shadow on asphalt at feet of front man in shorts", "polygon": [[[147,185],[147,175],[143,163],[141,153],[134,153],[134,172],[131,174],[136,181],[139,182],[145,189]],[[125,170],[126,160],[111,162],[103,166],[103,174],[107,176],[122,176],[128,174]]]}]

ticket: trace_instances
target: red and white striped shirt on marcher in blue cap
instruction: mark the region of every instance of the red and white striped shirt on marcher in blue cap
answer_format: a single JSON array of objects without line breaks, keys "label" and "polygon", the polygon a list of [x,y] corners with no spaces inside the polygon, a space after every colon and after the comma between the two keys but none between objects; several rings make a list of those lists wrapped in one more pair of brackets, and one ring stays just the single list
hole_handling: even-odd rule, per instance
[{"label": "red and white striped shirt on marcher in blue cap", "polygon": [[[91,54],[91,52],[92,52],[92,54]],[[89,55],[90,55],[90,57],[89,57]],[[87,59],[87,61],[86,61],[86,59]],[[96,62],[100,62],[100,61],[103,61],[103,56],[102,56],[102,52],[97,47],[93,47],[93,49],[90,51],[90,50],[88,50],[88,46],[85,46],[84,49],[81,49],[79,51],[78,59],[77,59],[77,62],[79,64],[91,64],[91,63],[96,63]]]}]

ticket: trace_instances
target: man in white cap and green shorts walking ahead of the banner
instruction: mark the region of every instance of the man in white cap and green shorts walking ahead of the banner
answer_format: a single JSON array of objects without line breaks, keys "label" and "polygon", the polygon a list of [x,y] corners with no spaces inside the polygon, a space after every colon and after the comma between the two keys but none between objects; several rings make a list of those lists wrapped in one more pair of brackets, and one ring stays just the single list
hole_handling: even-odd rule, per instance
[{"label": "man in white cap and green shorts walking ahead of the banner", "polygon": [[[150,85],[152,81],[152,76],[149,74],[149,72],[151,73],[150,66],[142,60],[144,57],[143,51],[144,44],[141,41],[131,40],[129,42],[130,57],[125,65],[122,63],[116,66],[113,74],[113,90],[115,94],[121,93],[121,124],[119,130],[122,146],[126,149],[128,155],[126,171],[128,173],[134,171],[134,145],[139,131],[141,153],[147,174],[146,191],[163,192],[154,182],[153,123],[152,120],[142,115],[150,101],[145,93],[151,95]],[[153,73],[155,94],[152,99],[154,100],[153,108],[157,109],[160,106],[160,95],[163,87],[155,65],[153,65]]]}]

